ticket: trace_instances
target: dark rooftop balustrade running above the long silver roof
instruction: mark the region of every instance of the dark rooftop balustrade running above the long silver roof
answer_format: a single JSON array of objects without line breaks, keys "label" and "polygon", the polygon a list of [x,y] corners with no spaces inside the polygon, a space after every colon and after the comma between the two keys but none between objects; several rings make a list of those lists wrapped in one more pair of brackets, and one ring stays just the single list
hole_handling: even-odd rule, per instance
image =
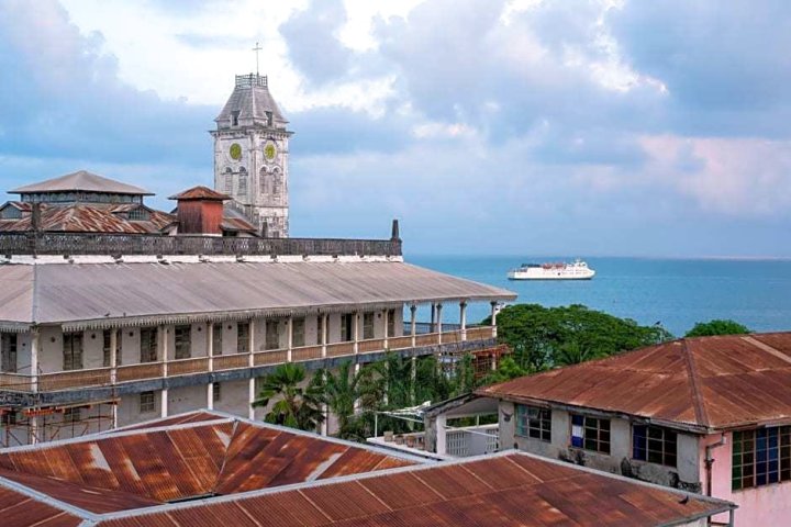
[{"label": "dark rooftop balustrade running above the long silver roof", "polygon": [[9,255],[401,256],[401,240],[2,233],[0,256]]}]

